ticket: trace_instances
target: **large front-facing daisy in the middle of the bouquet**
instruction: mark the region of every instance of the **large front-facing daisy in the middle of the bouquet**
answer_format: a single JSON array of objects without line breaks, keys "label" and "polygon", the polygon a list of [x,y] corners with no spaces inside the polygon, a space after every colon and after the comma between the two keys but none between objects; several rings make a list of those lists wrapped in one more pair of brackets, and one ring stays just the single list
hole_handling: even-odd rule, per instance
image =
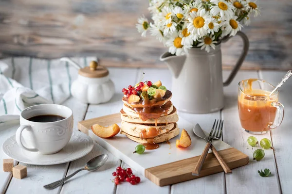
[{"label": "large front-facing daisy in the middle of the bouquet", "polygon": [[205,9],[198,10],[198,12],[191,12],[188,17],[188,31],[194,35],[194,40],[198,37],[204,36],[207,34],[207,30],[205,29],[206,19],[210,18],[209,14],[206,14]]}]

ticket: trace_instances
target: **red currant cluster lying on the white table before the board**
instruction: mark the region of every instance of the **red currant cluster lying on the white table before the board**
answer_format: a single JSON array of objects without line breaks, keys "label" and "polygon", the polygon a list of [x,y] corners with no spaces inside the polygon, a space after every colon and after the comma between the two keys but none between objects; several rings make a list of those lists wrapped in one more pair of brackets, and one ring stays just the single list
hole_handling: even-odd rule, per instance
[{"label": "red currant cluster lying on the white table before the board", "polygon": [[112,173],[112,176],[114,176],[114,183],[116,185],[121,184],[123,181],[127,181],[131,183],[132,185],[135,185],[140,182],[140,177],[136,177],[133,175],[132,169],[127,168],[126,170],[123,169],[122,167],[118,166],[116,172]]}]

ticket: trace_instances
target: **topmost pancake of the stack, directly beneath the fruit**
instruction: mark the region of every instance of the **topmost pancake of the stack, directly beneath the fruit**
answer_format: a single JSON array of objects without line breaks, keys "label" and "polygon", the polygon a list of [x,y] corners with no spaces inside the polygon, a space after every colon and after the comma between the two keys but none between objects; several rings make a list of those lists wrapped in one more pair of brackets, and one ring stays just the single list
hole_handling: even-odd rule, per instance
[{"label": "topmost pancake of the stack, directly beneath the fruit", "polygon": [[128,103],[128,98],[123,97],[122,100],[124,104],[128,105],[129,107],[136,107],[136,108],[143,108],[143,107],[153,107],[153,106],[162,106],[166,102],[168,102],[172,97],[172,93],[169,90],[166,90],[165,95],[161,99],[154,98],[153,100],[149,101],[149,104],[143,104],[143,99],[141,99],[139,102],[129,104]]}]

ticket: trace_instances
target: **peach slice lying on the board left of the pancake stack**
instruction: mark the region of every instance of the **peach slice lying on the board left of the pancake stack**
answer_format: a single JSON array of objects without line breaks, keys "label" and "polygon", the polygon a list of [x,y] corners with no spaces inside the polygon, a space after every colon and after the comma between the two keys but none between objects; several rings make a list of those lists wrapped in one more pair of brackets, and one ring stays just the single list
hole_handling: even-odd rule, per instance
[{"label": "peach slice lying on the board left of the pancake stack", "polygon": [[95,124],[91,126],[91,129],[95,135],[102,138],[110,138],[120,132],[120,127],[117,124],[110,125],[109,127]]}]

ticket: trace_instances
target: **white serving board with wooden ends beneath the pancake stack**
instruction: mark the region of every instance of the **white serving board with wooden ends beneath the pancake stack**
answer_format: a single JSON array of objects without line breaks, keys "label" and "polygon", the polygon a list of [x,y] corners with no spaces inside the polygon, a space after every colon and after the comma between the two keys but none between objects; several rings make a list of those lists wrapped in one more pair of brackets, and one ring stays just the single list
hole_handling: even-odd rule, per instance
[{"label": "white serving board with wooden ends beneath the pancake stack", "polygon": [[[170,185],[223,172],[219,162],[210,150],[202,166],[200,176],[192,176],[192,170],[200,158],[205,142],[193,134],[192,124],[182,117],[179,119],[178,126],[180,131],[185,129],[191,136],[192,145],[190,147],[186,149],[177,148],[175,141],[179,138],[178,136],[170,140],[170,145],[161,143],[158,149],[146,150],[141,155],[133,154],[137,143],[129,140],[125,135],[117,134],[112,138],[103,139],[96,136],[91,130],[91,125],[93,124],[108,126],[113,123],[119,124],[120,122],[120,113],[116,113],[80,121],[78,129],[91,136],[99,145],[158,186]],[[219,140],[213,141],[213,145],[217,150],[220,150],[219,154],[231,169],[249,163],[249,157],[236,148]]]}]

